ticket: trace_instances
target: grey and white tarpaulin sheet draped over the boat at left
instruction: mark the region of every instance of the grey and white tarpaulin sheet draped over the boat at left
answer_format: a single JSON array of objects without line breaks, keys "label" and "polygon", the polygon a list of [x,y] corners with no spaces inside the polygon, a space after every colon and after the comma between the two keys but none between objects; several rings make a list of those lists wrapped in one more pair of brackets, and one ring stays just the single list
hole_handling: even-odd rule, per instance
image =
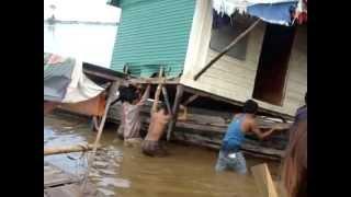
[{"label": "grey and white tarpaulin sheet draped over the boat at left", "polygon": [[98,96],[103,90],[84,76],[82,61],[44,54],[44,101],[78,103]]}]

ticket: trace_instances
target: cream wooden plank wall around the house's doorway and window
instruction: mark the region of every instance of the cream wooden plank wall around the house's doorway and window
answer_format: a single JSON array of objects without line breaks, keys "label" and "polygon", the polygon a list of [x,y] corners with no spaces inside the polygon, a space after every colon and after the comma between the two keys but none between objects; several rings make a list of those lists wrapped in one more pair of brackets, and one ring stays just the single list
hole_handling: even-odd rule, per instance
[{"label": "cream wooden plank wall around the house's doorway and window", "polygon": [[[228,100],[245,102],[252,97],[265,25],[264,23],[259,24],[248,35],[246,60],[225,55],[197,81],[194,81],[194,74],[218,55],[217,51],[210,48],[211,9],[211,1],[197,1],[184,71],[180,83]],[[298,26],[288,62],[283,106],[258,101],[261,107],[293,116],[296,108],[303,104],[304,93],[307,90],[306,35],[307,28]]]}]

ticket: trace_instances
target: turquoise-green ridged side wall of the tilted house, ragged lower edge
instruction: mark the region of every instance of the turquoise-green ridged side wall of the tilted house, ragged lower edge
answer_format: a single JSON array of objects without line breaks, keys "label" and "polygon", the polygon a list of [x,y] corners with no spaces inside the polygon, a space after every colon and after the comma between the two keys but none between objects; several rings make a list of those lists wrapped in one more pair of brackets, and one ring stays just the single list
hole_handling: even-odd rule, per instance
[{"label": "turquoise-green ridged side wall of the tilted house, ragged lower edge", "polygon": [[111,68],[150,77],[163,66],[168,77],[183,70],[195,0],[121,0],[122,15]]}]

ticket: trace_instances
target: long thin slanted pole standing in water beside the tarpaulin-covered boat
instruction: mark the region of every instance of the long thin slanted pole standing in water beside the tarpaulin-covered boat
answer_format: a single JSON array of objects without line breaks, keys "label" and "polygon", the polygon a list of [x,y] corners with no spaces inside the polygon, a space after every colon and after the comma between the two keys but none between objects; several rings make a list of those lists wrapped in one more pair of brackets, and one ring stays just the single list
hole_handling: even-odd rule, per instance
[{"label": "long thin slanted pole standing in water beside the tarpaulin-covered boat", "polygon": [[107,101],[106,101],[105,111],[104,111],[104,114],[102,116],[101,123],[99,125],[99,130],[98,130],[98,135],[97,135],[95,141],[93,143],[92,157],[88,158],[88,167],[87,167],[87,173],[84,174],[83,184],[82,184],[82,187],[81,187],[81,192],[82,192],[81,195],[83,194],[84,187],[87,185],[90,167],[94,162],[94,158],[95,158],[95,154],[97,154],[97,149],[99,147],[99,141],[100,141],[100,138],[101,138],[101,135],[102,135],[102,131],[103,131],[103,127],[105,125],[105,120],[106,120],[106,116],[107,116],[107,112],[109,112],[110,105],[114,101],[115,94],[118,91],[118,86],[120,86],[120,81],[115,81],[115,82],[112,83],[112,85],[110,88],[110,91],[109,91],[109,94],[107,94]]}]

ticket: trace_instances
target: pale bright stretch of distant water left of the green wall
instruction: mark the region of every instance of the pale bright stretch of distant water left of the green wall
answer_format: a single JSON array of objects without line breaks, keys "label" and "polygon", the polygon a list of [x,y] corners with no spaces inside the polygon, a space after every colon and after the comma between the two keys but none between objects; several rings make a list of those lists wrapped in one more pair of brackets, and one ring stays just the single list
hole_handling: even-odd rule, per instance
[{"label": "pale bright stretch of distant water left of the green wall", "polygon": [[116,25],[44,24],[44,51],[110,67],[116,32]]}]

